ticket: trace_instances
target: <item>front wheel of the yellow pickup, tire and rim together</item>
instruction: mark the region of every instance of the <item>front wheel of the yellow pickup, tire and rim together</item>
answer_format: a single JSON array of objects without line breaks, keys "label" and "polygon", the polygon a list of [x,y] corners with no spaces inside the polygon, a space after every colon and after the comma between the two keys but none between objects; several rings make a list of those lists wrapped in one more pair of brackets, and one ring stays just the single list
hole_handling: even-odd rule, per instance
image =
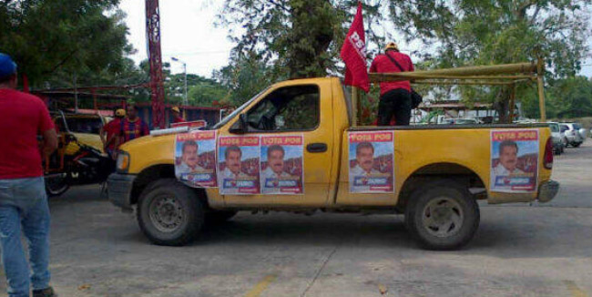
[{"label": "front wheel of the yellow pickup, tire and rim together", "polygon": [[138,224],[154,244],[181,246],[197,237],[204,206],[197,193],[177,179],[152,182],[138,200]]}]

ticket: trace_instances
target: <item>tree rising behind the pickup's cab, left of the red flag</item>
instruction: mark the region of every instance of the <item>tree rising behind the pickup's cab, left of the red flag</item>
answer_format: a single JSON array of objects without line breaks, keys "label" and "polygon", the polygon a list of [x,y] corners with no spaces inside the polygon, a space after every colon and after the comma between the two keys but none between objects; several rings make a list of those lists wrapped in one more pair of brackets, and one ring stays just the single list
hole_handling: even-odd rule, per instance
[{"label": "tree rising behind the pickup's cab, left of the red flag", "polygon": [[[373,27],[381,17],[380,1],[367,2],[364,17],[368,36],[380,44],[383,35]],[[226,0],[219,19],[223,26],[241,28],[239,32],[230,31],[237,43],[234,57],[256,56],[285,77],[324,77],[341,70],[337,67],[339,51],[356,4],[336,0]]]}]

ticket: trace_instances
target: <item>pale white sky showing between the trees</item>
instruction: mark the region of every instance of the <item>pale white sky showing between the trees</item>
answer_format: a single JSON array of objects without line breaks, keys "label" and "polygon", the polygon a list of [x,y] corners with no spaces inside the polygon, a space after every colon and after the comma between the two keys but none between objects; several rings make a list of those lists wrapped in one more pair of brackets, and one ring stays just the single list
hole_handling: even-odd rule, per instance
[{"label": "pale white sky showing between the trees", "polygon": [[[181,63],[171,61],[173,56],[187,64],[188,73],[203,77],[211,77],[213,70],[228,65],[233,47],[228,28],[214,26],[223,0],[160,0],[159,3],[162,61],[171,64],[172,73],[183,72]],[[131,58],[139,63],[148,56],[145,0],[122,0],[119,8],[128,15],[128,39],[137,50]],[[421,45],[400,46],[403,52],[409,52]],[[592,38],[589,46],[592,47]],[[412,59],[416,61],[413,56]],[[592,58],[584,62],[580,74],[592,77]]]}]

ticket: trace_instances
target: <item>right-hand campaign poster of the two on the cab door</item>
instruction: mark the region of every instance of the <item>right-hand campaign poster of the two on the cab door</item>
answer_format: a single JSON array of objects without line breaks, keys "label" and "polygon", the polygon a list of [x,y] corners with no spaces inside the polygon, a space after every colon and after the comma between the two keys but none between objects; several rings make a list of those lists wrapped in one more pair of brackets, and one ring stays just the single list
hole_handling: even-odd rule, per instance
[{"label": "right-hand campaign poster of the two on the cab door", "polygon": [[261,137],[261,193],[304,192],[303,143],[301,135]]}]

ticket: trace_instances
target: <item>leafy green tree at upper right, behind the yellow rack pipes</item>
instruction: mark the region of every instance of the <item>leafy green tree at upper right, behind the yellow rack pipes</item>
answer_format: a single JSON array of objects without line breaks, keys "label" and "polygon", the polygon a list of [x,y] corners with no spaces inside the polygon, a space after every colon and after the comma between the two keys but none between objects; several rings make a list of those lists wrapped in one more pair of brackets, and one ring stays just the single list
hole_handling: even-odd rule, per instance
[{"label": "leafy green tree at upper right, behind the yellow rack pipes", "polygon": [[[395,26],[407,41],[434,46],[424,52],[435,67],[491,65],[545,58],[547,78],[574,76],[587,55],[589,0],[390,0]],[[509,90],[461,87],[465,100],[485,95],[496,102],[500,120],[508,114]],[[518,97],[525,97],[521,87]]]}]

